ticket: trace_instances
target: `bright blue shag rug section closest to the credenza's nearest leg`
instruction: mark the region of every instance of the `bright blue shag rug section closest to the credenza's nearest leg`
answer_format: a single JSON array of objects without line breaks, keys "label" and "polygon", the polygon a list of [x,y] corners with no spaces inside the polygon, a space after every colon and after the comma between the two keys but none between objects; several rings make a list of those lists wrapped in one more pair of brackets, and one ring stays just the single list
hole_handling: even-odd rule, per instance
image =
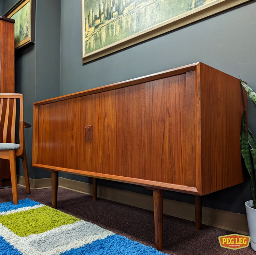
[{"label": "bright blue shag rug section closest to the credenza's nearest leg", "polygon": [[[97,240],[91,244],[84,245],[77,249],[71,249],[63,255],[163,255],[162,252],[146,246],[137,241],[132,241],[124,236],[112,235],[105,239]],[[166,254],[168,255],[168,254]]]}]

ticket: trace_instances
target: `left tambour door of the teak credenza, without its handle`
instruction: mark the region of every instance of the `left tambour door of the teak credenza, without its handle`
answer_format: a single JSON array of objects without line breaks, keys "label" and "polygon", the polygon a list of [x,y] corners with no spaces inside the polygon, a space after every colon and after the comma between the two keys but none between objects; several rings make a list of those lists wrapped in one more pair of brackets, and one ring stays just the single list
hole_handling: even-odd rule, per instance
[{"label": "left tambour door of the teak credenza, without its handle", "polygon": [[88,96],[40,105],[37,163],[87,170],[91,155],[84,123],[90,123],[89,116]]}]

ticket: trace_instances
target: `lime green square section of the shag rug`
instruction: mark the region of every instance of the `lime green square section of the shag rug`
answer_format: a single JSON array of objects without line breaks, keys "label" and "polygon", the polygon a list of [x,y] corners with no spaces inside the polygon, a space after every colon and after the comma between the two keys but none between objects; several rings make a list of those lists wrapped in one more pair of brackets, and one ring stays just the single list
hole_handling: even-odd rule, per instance
[{"label": "lime green square section of the shag rug", "polygon": [[76,221],[80,219],[48,206],[0,216],[0,223],[21,237],[43,233]]}]

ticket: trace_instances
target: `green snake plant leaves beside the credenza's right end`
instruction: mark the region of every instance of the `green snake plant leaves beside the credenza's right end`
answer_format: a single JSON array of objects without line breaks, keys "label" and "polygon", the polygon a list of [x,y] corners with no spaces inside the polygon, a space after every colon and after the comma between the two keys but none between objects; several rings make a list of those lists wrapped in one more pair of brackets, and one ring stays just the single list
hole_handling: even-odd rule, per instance
[{"label": "green snake plant leaves beside the credenza's right end", "polygon": [[[241,79],[240,82],[256,107],[256,92]],[[248,129],[248,133],[246,132],[245,110],[242,117],[240,145],[244,164],[250,175],[253,207],[256,208],[256,138],[250,129]]]}]

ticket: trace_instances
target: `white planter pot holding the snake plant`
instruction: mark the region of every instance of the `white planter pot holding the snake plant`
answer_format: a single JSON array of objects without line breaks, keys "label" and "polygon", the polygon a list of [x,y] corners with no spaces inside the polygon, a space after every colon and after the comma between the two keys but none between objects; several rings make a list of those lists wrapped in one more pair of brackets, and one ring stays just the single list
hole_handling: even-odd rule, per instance
[{"label": "white planter pot holding the snake plant", "polygon": [[256,251],[256,209],[251,206],[253,206],[252,200],[245,202],[249,235],[251,237],[251,247]]}]

